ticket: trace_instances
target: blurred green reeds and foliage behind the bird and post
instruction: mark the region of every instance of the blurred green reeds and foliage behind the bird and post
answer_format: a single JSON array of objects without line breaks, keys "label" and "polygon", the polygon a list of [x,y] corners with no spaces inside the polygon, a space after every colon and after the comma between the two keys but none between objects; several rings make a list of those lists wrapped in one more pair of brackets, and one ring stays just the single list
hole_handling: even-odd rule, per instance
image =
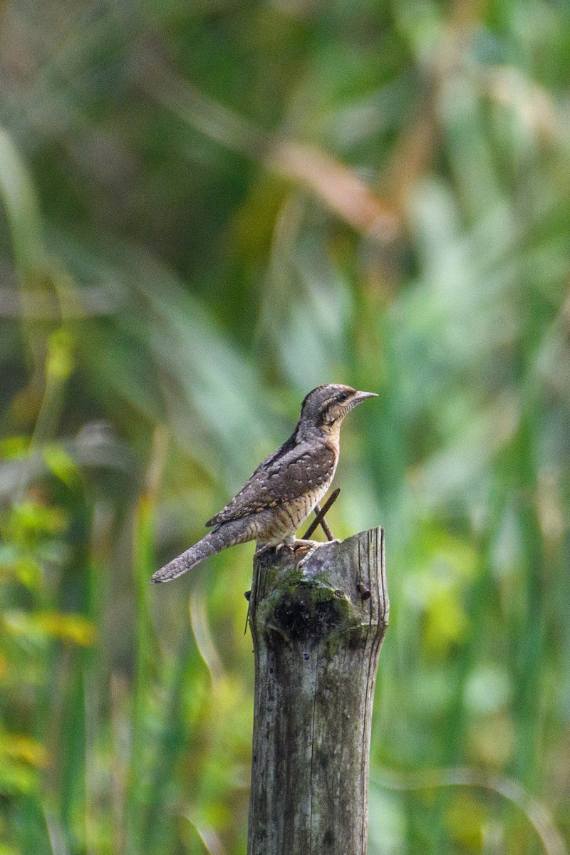
[{"label": "blurred green reeds and foliage behind the bird and post", "polygon": [[253,547],[148,580],[330,381],[370,855],[565,855],[570,6],[5,0],[0,56],[1,855],[243,855]]}]

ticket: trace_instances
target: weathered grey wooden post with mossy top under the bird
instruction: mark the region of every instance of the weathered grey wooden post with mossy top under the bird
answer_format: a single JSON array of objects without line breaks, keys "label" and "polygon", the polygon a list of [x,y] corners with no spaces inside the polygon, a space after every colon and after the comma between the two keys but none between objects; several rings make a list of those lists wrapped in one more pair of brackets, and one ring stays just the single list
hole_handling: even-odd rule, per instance
[{"label": "weathered grey wooden post with mossy top under the bird", "polygon": [[365,855],[372,705],[388,622],[384,532],[254,563],[248,855]]}]

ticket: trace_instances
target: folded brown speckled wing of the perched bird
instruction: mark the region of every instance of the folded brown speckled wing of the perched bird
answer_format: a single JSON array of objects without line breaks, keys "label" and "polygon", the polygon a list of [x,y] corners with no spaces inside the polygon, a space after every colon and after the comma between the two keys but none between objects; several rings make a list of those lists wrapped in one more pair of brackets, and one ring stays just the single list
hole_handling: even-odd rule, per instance
[{"label": "folded brown speckled wing of the perched bird", "polygon": [[289,441],[267,457],[232,501],[206,525],[217,526],[220,522],[275,508],[330,480],[337,465],[333,448],[328,445],[315,448],[302,442],[284,451],[287,445]]}]

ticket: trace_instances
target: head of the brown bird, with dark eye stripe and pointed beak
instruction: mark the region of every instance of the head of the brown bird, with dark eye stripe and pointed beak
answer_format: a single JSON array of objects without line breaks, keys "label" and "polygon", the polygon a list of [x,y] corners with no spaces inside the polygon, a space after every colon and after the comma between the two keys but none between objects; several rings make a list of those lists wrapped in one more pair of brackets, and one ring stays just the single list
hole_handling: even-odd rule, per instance
[{"label": "head of the brown bird, with dark eye stripe and pointed beak", "polygon": [[309,392],[301,406],[301,416],[297,425],[299,439],[312,433],[338,433],[347,413],[367,398],[377,398],[375,392],[357,392],[350,386],[331,383],[317,386]]}]

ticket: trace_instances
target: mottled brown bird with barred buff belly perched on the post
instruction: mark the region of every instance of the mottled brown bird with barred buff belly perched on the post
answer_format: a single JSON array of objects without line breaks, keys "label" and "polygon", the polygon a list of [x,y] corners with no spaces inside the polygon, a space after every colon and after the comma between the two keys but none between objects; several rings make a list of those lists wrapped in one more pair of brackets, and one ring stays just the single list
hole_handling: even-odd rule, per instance
[{"label": "mottled brown bird with barred buff belly perched on the post", "polygon": [[176,579],[217,552],[256,540],[258,551],[284,545],[298,548],[314,541],[296,540],[297,528],[325,495],[339,454],[340,426],[350,410],[375,392],[330,383],[303,398],[301,415],[289,439],[257,467],[244,487],[206,523],[212,530],[183,552],[150,582]]}]

